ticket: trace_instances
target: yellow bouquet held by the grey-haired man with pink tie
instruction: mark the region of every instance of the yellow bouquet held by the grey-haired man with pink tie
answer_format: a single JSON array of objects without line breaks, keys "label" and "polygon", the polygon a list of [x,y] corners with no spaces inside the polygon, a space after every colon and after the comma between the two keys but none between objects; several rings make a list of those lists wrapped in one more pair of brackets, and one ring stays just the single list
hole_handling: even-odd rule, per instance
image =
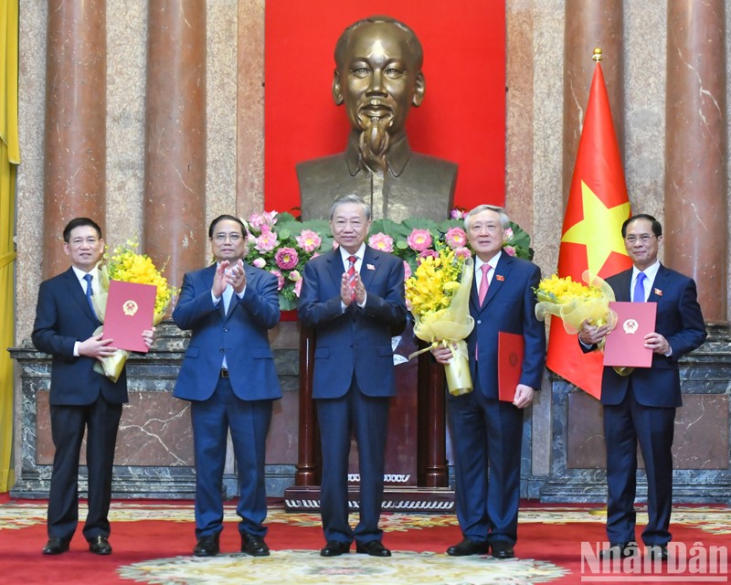
[{"label": "yellow bouquet held by the grey-haired man with pink tie", "polygon": [[[472,390],[467,344],[474,320],[470,315],[472,258],[469,252],[438,245],[437,253],[422,258],[406,281],[406,298],[414,315],[414,335],[431,347],[450,345],[454,356],[444,369],[450,394]],[[416,352],[409,358],[416,356]]]}]

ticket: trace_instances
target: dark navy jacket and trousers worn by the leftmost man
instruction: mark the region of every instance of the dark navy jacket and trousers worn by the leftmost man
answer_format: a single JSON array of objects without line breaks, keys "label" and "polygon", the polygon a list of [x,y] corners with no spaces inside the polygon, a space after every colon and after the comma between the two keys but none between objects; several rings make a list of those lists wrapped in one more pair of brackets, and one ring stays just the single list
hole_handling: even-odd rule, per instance
[{"label": "dark navy jacket and trousers worn by the leftmost man", "polygon": [[114,445],[127,402],[124,370],[116,382],[93,371],[96,359],[75,357],[74,344],[100,325],[73,269],[42,282],[38,292],[33,344],[53,356],[51,433],[56,452],[48,494],[48,537],[70,540],[79,521],[79,450],[87,437],[89,513],[84,537],[109,537]]}]

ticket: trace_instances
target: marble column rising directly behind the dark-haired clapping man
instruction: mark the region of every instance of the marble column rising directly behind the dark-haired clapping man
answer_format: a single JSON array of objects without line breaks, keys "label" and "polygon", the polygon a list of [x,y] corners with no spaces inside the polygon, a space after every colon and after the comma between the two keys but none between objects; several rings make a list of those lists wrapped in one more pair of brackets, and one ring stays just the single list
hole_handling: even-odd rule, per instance
[{"label": "marble column rising directly behind the dark-haired clapping man", "polygon": [[179,287],[207,248],[206,2],[148,6],[143,249]]}]

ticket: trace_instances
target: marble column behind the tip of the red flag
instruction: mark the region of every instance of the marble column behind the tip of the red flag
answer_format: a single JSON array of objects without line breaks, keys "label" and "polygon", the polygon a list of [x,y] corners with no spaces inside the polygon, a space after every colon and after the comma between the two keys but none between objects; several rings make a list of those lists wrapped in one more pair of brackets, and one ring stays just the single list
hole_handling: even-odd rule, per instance
[{"label": "marble column behind the tip of the red flag", "polygon": [[564,205],[577,162],[578,139],[584,124],[588,91],[596,67],[594,48],[603,52],[601,69],[613,112],[617,142],[624,144],[624,52],[622,47],[622,0],[586,2],[567,0],[564,29]]}]

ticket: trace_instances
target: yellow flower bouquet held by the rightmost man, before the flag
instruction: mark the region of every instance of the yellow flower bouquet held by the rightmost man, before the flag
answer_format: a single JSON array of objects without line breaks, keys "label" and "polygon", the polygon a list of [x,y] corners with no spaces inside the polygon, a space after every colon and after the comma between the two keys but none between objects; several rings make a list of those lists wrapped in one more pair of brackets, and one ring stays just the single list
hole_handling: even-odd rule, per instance
[{"label": "yellow flower bouquet held by the rightmost man, before the flag", "polygon": [[581,278],[587,284],[576,282],[570,276],[543,279],[535,290],[535,316],[539,321],[546,314],[554,314],[564,322],[564,329],[575,335],[584,321],[589,324],[603,325],[609,323],[613,329],[617,324],[617,314],[609,309],[609,302],[614,301],[614,292],[607,282],[599,276],[584,271]]}]

